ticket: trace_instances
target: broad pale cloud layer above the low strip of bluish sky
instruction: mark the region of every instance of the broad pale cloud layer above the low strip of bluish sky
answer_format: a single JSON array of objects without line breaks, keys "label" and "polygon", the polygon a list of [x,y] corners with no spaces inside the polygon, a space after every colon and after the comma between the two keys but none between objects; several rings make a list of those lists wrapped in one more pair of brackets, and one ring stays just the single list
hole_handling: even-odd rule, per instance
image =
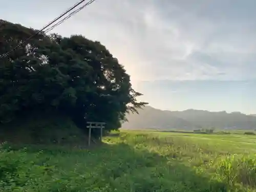
[{"label": "broad pale cloud layer above the low strip of bluish sky", "polygon": [[[72,3],[75,0],[63,4],[51,1],[49,8],[47,3],[35,6],[34,1],[26,0],[20,5],[25,7],[23,15],[15,16],[8,10],[4,14],[12,22],[39,28]],[[30,8],[34,4],[33,13],[28,6],[26,10],[26,4]],[[97,0],[54,32],[81,33],[100,40],[125,66],[134,83],[251,79],[256,77],[250,70],[256,61],[254,4],[229,0]],[[48,14],[42,16],[40,9],[48,9]]]}]

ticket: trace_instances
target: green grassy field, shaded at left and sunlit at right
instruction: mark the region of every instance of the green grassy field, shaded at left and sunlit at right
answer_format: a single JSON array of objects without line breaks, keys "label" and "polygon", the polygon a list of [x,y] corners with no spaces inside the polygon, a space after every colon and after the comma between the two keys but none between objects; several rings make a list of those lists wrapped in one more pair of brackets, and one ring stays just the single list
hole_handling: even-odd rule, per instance
[{"label": "green grassy field, shaded at left and sunlit at right", "polygon": [[0,191],[256,191],[256,136],[121,131],[91,149],[0,153]]}]

